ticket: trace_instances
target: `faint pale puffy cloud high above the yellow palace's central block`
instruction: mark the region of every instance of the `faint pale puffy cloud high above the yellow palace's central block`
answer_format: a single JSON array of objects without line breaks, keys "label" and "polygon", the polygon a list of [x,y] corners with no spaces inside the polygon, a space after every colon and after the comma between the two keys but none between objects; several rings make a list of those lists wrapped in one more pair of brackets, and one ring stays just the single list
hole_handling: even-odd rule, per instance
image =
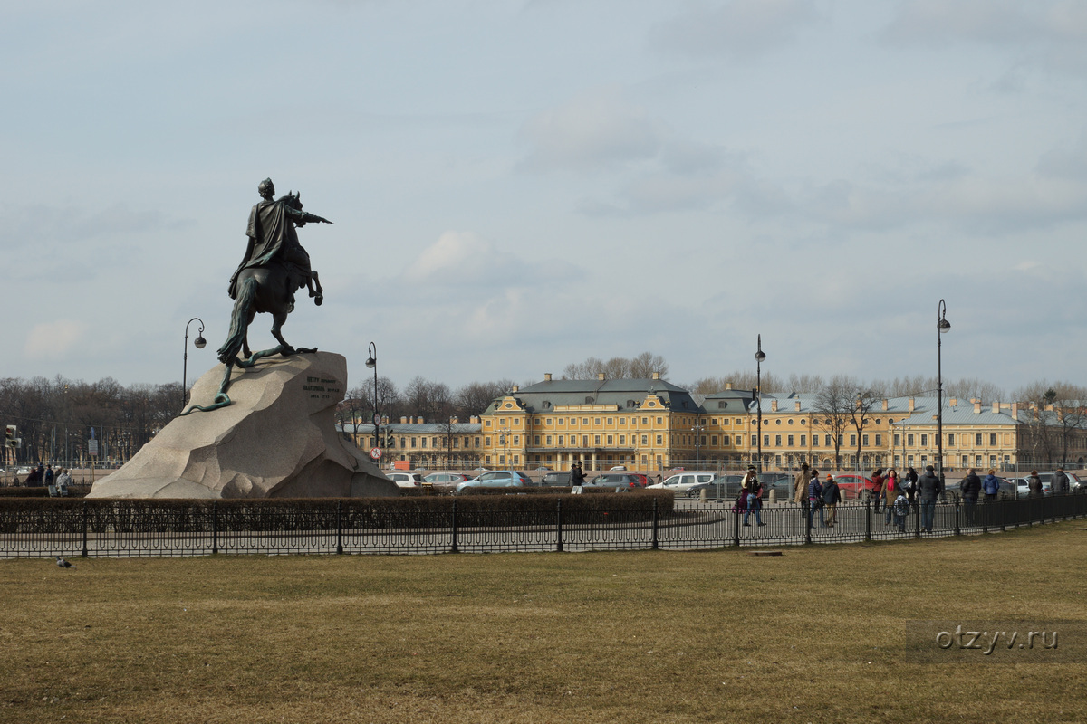
[{"label": "faint pale puffy cloud high above the yellow palace's central block", "polygon": [[523,168],[592,170],[658,154],[664,124],[616,87],[580,93],[530,118],[521,135],[532,145]]}]

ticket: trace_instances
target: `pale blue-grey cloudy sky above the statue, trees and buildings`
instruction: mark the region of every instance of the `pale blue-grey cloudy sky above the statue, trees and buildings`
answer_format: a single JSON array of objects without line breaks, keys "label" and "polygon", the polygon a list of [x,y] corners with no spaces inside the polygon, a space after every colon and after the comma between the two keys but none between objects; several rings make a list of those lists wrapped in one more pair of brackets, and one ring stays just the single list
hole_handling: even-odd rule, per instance
[{"label": "pale blue-grey cloudy sky above the statue, trees and buildings", "polygon": [[211,367],[271,176],[352,382],[934,374],[945,299],[947,377],[1087,383],[1079,0],[3,5],[0,377]]}]

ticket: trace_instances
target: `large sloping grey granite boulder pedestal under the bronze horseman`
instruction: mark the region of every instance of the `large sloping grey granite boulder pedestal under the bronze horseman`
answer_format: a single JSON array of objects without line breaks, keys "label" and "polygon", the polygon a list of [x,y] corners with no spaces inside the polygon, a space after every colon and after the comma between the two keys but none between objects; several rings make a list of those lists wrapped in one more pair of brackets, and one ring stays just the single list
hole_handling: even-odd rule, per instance
[{"label": "large sloping grey granite boulder pedestal under the bronze horseman", "polygon": [[[208,405],[223,365],[193,385]],[[267,357],[235,368],[234,404],[174,420],[92,498],[303,498],[399,495],[368,456],[336,431],[347,359],[327,352]]]}]

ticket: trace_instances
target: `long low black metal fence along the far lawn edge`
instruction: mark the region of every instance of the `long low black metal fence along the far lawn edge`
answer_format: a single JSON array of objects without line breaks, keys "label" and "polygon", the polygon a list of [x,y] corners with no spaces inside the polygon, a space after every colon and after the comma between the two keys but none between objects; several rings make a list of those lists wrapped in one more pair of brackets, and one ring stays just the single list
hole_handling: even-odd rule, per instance
[{"label": "long low black metal fence along the far lawn edge", "polygon": [[[208,554],[440,554],[692,549],[894,541],[977,534],[1087,516],[1087,493],[933,506],[913,504],[902,519],[871,501],[834,510],[782,504],[745,516],[729,504],[663,510],[386,510],[343,500],[297,506],[153,500],[0,500],[0,558],[203,556]],[[551,504],[548,504],[550,506]],[[745,524],[746,523],[746,524]],[[760,524],[762,523],[762,524]]]}]

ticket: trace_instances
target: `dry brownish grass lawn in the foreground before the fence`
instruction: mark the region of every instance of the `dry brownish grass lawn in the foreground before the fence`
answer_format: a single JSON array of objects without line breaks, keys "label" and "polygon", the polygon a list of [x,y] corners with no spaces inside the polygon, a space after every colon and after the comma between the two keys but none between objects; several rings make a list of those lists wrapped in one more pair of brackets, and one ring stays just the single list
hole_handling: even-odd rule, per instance
[{"label": "dry brownish grass lawn in the foreground before the fence", "polygon": [[[0,561],[0,722],[1084,722],[1083,529]],[[1048,621],[1064,658],[941,659],[934,619]]]}]

